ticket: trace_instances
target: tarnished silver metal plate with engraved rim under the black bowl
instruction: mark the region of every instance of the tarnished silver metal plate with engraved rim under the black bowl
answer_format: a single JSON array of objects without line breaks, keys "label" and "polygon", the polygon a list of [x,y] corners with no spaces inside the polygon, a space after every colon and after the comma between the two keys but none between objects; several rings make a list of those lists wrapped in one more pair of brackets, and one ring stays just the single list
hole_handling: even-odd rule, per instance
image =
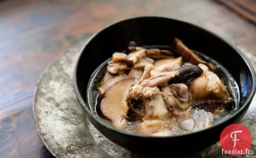
[{"label": "tarnished silver metal plate with engraved rim under the black bowl", "polygon": [[[142,158],[107,140],[85,118],[72,85],[72,70],[81,41],[57,57],[43,72],[34,96],[34,118],[43,143],[57,158]],[[236,44],[256,68],[256,56],[244,46]],[[256,97],[250,106],[244,124],[252,133],[251,154],[256,155]],[[245,120],[247,119],[247,120]],[[186,151],[185,151],[186,152]],[[170,154],[171,155],[171,154]],[[219,143],[194,153],[190,157],[226,158]],[[252,157],[243,156],[243,157]],[[254,157],[254,156],[253,156]]]}]

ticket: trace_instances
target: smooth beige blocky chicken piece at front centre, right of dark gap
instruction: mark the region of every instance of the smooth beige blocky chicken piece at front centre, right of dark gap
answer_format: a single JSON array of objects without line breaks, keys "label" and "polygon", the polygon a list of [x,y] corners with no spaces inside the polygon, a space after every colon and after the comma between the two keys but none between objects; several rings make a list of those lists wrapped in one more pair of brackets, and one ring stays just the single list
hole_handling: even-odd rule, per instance
[{"label": "smooth beige blocky chicken piece at front centre, right of dark gap", "polygon": [[168,111],[161,94],[157,94],[145,102],[145,120],[159,119],[166,120]]}]

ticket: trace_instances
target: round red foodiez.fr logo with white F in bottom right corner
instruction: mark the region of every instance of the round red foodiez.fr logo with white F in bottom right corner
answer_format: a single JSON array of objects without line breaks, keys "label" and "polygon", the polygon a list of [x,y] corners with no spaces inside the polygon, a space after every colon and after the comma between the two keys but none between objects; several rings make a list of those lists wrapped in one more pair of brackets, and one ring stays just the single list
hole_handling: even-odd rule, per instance
[{"label": "round red foodiez.fr logo with white F in bottom right corner", "polygon": [[232,124],[227,126],[220,136],[221,154],[240,156],[250,154],[252,135],[245,126]]}]

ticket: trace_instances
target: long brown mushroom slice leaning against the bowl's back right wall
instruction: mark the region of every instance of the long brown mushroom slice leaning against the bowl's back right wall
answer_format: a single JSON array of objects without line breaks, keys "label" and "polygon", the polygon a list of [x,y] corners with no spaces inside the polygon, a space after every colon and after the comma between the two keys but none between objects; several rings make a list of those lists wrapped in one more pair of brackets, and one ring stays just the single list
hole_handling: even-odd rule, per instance
[{"label": "long brown mushroom slice leaning against the bowl's back right wall", "polygon": [[190,50],[184,43],[178,39],[175,38],[172,45],[170,46],[171,49],[174,49],[174,51],[178,54],[180,54],[184,60],[190,62],[191,64],[198,65],[198,64],[205,64],[209,66],[209,68],[215,70],[216,67],[211,62],[207,63],[206,61],[202,60],[196,53],[194,53],[192,50]]}]

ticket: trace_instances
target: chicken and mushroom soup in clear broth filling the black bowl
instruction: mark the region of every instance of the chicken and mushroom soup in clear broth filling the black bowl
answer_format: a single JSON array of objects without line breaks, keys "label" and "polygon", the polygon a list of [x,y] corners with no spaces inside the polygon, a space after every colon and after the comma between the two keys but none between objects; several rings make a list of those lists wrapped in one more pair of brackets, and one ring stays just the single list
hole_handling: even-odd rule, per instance
[{"label": "chicken and mushroom soup in clear broth filling the black bowl", "polygon": [[97,113],[143,135],[179,135],[214,125],[239,104],[238,86],[218,62],[175,38],[169,47],[114,52],[97,85]]}]

